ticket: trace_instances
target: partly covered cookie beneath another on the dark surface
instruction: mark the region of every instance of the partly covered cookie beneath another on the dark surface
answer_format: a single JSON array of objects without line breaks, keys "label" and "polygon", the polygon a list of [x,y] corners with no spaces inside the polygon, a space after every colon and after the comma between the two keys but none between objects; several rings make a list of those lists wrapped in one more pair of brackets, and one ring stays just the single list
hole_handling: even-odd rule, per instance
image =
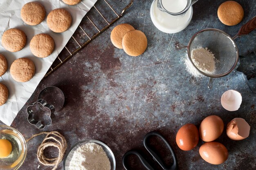
[{"label": "partly covered cookie beneath another on the dark surface", "polygon": [[131,30],[134,30],[134,28],[130,24],[119,24],[115,26],[110,34],[112,44],[117,48],[123,49],[122,39],[124,35]]}]

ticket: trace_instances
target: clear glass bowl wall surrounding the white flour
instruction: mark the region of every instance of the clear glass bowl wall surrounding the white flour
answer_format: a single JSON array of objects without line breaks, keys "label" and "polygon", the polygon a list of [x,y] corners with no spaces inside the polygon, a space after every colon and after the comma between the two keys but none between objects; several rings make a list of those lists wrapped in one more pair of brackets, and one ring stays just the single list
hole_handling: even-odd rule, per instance
[{"label": "clear glass bowl wall surrounding the white flour", "polygon": [[70,161],[71,161],[71,159],[74,155],[74,151],[77,148],[79,148],[79,146],[82,146],[83,144],[88,144],[88,143],[94,143],[94,144],[98,144],[99,146],[101,146],[103,148],[103,150],[106,152],[106,154],[108,156],[108,159],[110,161],[110,166],[111,166],[110,170],[115,170],[116,169],[115,156],[106,144],[104,144],[104,143],[102,143],[98,140],[84,140],[84,141],[79,142],[79,143],[75,144],[74,146],[72,146],[72,148],[66,153],[65,158],[64,158],[64,162],[63,162],[64,170],[69,169],[69,164],[70,164]]}]

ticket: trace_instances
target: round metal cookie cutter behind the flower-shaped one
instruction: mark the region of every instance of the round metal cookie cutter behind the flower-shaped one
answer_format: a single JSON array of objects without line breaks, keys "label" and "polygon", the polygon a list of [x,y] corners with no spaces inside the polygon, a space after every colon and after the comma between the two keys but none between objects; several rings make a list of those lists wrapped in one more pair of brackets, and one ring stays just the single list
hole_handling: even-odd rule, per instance
[{"label": "round metal cookie cutter behind the flower-shaped one", "polygon": [[[43,99],[47,103],[53,105],[54,108],[55,108],[55,112],[60,111],[61,109],[63,109],[63,107],[65,105],[65,94],[64,94],[64,92],[60,88],[55,87],[55,86],[45,87],[38,94],[37,100],[39,100],[39,99]],[[45,109],[45,107],[42,107],[41,105],[39,105],[39,107],[43,111],[49,112],[49,110]]]}]

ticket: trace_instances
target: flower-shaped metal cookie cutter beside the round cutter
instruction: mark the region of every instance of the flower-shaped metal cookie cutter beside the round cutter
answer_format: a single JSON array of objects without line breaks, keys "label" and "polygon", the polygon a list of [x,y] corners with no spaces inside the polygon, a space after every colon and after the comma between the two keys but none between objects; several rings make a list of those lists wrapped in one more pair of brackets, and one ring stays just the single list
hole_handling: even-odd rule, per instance
[{"label": "flower-shaped metal cookie cutter beside the round cutter", "polygon": [[[48,113],[50,113],[50,121],[49,121],[49,123],[43,124],[41,122],[41,120],[38,121],[38,120],[34,119],[34,114],[36,114],[36,112],[33,111],[33,107],[34,107],[34,105],[36,103],[38,103],[40,108],[43,107],[43,108],[48,110]],[[27,121],[30,124],[35,125],[38,129],[44,129],[45,126],[50,126],[52,124],[52,120],[54,120],[54,118],[55,118],[54,111],[55,111],[55,109],[54,109],[53,105],[47,103],[43,99],[39,99],[39,100],[37,100],[36,102],[32,103],[30,106],[27,107],[27,114],[28,114]]]}]

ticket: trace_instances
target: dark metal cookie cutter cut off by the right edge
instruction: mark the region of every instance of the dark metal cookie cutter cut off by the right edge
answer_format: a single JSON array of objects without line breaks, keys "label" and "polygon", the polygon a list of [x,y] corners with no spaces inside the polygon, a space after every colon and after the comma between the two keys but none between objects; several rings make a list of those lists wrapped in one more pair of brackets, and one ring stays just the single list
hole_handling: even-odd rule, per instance
[{"label": "dark metal cookie cutter cut off by the right edge", "polygon": [[246,56],[239,56],[236,71],[242,73],[249,89],[256,93],[256,51],[252,51]]}]

